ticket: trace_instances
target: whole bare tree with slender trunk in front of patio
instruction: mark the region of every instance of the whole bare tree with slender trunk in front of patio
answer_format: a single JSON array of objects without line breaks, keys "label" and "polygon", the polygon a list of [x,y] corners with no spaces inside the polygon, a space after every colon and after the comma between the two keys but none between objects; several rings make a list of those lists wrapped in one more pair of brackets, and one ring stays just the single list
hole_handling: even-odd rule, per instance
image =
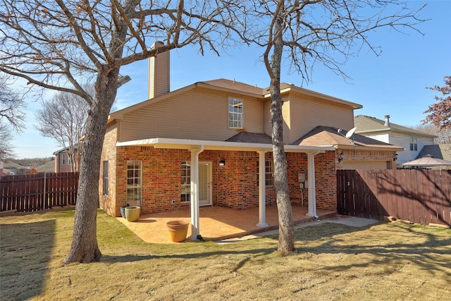
[{"label": "whole bare tree with slender trunk in front of patio", "polygon": [[380,54],[369,42],[369,35],[379,27],[395,31],[414,30],[422,22],[419,10],[410,10],[398,1],[350,0],[268,0],[252,1],[247,7],[248,18],[254,16],[257,29],[247,42],[264,49],[263,59],[271,79],[271,123],[279,213],[278,250],[287,254],[295,250],[292,238],[292,214],[288,193],[287,162],[283,149],[282,104],[280,97],[280,68],[284,56],[289,67],[302,81],[310,80],[311,70],[322,63],[333,72],[347,74],[342,69],[350,56],[362,49]]}]

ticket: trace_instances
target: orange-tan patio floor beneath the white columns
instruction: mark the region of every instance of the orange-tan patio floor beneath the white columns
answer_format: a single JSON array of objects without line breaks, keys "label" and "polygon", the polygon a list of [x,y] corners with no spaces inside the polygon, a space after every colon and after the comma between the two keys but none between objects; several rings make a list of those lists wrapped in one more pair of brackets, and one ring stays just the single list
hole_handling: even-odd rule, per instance
[{"label": "orange-tan patio floor beneath the white columns", "polygon": [[[313,221],[314,217],[307,216],[308,208],[292,206],[292,216],[295,224]],[[326,219],[336,215],[336,211],[316,209],[319,219]],[[125,226],[140,237],[144,242],[177,243],[169,238],[166,223],[174,220],[190,221],[190,209],[163,212],[157,214],[143,214],[135,222],[129,222],[122,217],[117,218]],[[237,210],[226,207],[200,207],[199,226],[200,235],[204,240],[223,240],[239,238],[245,235],[259,233],[278,228],[278,212],[276,206],[266,207],[267,227],[257,226],[259,223],[259,208]],[[187,239],[191,242],[191,224],[188,228]]]}]

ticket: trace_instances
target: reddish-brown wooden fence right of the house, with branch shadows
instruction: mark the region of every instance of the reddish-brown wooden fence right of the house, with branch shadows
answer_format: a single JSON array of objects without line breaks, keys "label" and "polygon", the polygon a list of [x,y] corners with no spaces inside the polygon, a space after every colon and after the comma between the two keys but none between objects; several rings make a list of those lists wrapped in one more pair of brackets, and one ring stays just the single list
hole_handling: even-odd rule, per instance
[{"label": "reddish-brown wooden fence right of the house, with branch shadows", "polygon": [[338,214],[451,226],[451,170],[338,170]]}]

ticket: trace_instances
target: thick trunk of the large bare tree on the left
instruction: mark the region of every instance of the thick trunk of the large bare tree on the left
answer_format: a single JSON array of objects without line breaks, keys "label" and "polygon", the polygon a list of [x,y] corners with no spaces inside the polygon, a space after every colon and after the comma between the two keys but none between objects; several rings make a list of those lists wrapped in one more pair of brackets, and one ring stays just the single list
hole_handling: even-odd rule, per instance
[{"label": "thick trunk of the large bare tree on the left", "polygon": [[99,207],[99,174],[101,152],[106,133],[109,111],[118,90],[119,68],[110,73],[99,73],[96,97],[87,118],[85,142],[80,158],[77,204],[73,238],[64,263],[99,261],[101,252],[97,243],[97,208]]}]

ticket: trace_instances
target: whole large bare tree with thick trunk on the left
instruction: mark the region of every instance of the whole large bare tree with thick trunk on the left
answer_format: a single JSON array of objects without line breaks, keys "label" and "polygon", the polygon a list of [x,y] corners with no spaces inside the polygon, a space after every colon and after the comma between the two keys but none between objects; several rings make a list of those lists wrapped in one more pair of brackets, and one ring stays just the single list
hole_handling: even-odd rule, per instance
[{"label": "whole large bare tree with thick trunk on the left", "polygon": [[[240,4],[233,1],[1,0],[0,71],[86,100],[88,111],[73,240],[65,263],[101,257],[96,218],[106,121],[121,66],[197,44],[217,54],[233,43]],[[151,48],[156,41],[163,46]],[[80,84],[94,79],[92,97]]]}]

